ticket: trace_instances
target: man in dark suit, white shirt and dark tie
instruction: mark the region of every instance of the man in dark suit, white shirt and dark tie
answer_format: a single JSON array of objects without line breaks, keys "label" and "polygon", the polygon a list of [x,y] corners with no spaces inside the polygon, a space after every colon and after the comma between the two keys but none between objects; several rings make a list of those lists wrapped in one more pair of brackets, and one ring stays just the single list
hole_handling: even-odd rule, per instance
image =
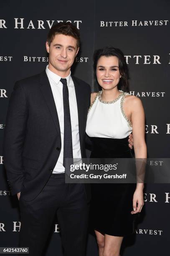
[{"label": "man in dark suit, white shirt and dark tie", "polygon": [[20,213],[20,246],[41,256],[57,213],[66,256],[85,255],[90,192],[65,184],[65,159],[85,158],[91,89],[71,75],[79,31],[58,23],[48,33],[49,65],[16,82],[5,127],[4,164]]}]

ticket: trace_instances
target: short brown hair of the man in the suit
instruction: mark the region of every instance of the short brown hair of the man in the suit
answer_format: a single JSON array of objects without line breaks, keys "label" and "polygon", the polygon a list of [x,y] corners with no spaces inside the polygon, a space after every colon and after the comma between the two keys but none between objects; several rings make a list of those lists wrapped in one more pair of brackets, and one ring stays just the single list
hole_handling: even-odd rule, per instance
[{"label": "short brown hair of the man in the suit", "polygon": [[50,31],[48,32],[48,36],[47,36],[47,42],[48,42],[49,46],[57,34],[74,37],[77,40],[77,48],[79,48],[79,46],[80,46],[79,30],[74,25],[72,25],[70,22],[57,23],[56,25],[51,27]]}]

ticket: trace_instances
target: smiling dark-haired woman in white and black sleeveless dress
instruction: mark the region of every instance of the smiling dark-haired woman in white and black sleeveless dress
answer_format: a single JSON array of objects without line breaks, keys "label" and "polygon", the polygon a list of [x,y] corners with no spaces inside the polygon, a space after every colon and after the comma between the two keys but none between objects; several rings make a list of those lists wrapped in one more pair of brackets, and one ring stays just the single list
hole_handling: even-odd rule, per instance
[{"label": "smiling dark-haired woman in white and black sleeveless dress", "polygon": [[[139,98],[126,93],[128,69],[122,51],[97,50],[94,72],[102,90],[91,94],[87,118],[91,158],[130,158],[128,136],[133,131],[135,158],[145,159],[144,109]],[[144,204],[143,187],[143,183],[92,184],[91,212],[99,256],[119,256],[123,237],[134,233],[135,214]]]}]

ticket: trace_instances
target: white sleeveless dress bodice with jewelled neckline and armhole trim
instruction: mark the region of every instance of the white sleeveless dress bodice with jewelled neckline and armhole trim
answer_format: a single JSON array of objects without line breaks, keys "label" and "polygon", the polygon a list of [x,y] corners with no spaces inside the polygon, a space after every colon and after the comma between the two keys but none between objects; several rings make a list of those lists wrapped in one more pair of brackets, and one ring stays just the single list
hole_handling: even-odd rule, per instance
[{"label": "white sleeveless dress bodice with jewelled neckline and armhole trim", "polygon": [[90,137],[100,138],[126,138],[132,132],[132,123],[124,113],[124,97],[122,92],[113,103],[99,100],[101,92],[95,97],[89,108],[86,123],[86,133]]}]

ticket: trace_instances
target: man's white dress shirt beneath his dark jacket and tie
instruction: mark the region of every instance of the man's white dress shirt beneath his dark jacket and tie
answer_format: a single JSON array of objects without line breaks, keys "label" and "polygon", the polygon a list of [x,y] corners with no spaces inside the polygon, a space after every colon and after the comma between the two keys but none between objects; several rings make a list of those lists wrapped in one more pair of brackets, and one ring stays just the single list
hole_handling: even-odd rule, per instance
[{"label": "man's white dress shirt beneath his dark jacket and tie", "polygon": [[[56,162],[56,166],[53,169],[53,173],[64,173],[65,168],[63,166],[63,139],[64,139],[64,111],[63,111],[63,84],[60,82],[61,77],[53,73],[46,67],[46,74],[48,76],[51,90],[53,92],[54,101],[58,113],[58,120],[61,131],[61,152]],[[67,86],[69,90],[69,106],[71,117],[71,131],[72,131],[72,145],[73,145],[73,158],[81,159],[80,140],[79,140],[79,120],[76,93],[74,88],[74,82],[71,78],[71,72],[67,79]],[[52,142],[51,142],[52,143]],[[56,145],[57,146],[57,145]]]}]

